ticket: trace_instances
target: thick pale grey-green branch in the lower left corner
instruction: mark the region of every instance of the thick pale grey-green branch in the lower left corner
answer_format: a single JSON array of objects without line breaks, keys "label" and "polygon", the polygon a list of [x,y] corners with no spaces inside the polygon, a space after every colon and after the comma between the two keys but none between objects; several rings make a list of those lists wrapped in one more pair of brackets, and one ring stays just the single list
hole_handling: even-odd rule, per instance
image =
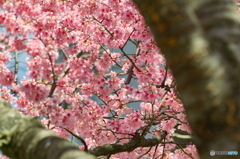
[{"label": "thick pale grey-green branch in the lower left corner", "polygon": [[33,117],[24,117],[0,100],[0,149],[15,159],[95,159],[70,141],[44,129]]}]

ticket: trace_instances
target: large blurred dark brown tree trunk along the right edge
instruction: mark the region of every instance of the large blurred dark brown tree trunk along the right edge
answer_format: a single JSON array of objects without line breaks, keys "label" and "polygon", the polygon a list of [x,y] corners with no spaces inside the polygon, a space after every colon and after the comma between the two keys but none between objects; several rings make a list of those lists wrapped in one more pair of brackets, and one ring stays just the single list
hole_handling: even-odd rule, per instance
[{"label": "large blurred dark brown tree trunk along the right edge", "polygon": [[240,153],[240,17],[235,2],[134,2],[173,71],[201,158],[211,157],[210,150]]}]

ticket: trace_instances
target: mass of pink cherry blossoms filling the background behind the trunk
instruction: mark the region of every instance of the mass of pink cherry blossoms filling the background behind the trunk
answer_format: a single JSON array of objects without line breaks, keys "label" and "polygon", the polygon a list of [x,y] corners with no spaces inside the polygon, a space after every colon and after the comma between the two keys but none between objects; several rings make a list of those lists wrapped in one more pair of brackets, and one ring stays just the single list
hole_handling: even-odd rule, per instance
[{"label": "mass of pink cherry blossoms filling the background behind the trunk", "polygon": [[[171,70],[131,0],[8,0],[0,8],[1,98],[62,137],[84,138],[89,149],[167,132],[154,147],[111,159],[198,158],[192,143],[173,140],[191,130]],[[21,51],[28,72],[18,81],[19,68],[7,63]]]}]

